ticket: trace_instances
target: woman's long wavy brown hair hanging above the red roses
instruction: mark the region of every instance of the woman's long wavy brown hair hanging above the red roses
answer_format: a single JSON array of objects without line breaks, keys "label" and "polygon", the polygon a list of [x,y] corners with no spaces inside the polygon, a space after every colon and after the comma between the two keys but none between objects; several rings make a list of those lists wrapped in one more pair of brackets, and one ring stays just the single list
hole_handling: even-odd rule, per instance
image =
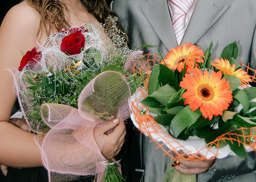
[{"label": "woman's long wavy brown hair hanging above the red roses", "polygon": [[[104,24],[105,19],[112,15],[115,16],[107,5],[105,0],[80,0],[88,12],[93,14],[99,22]],[[26,2],[33,7],[41,16],[40,29],[44,28],[49,36],[53,30],[58,32],[62,29],[68,29],[69,25],[66,20],[64,11],[65,4],[60,0],[26,0]],[[118,23],[119,29],[123,30]],[[40,30],[38,30],[39,34]]]}]

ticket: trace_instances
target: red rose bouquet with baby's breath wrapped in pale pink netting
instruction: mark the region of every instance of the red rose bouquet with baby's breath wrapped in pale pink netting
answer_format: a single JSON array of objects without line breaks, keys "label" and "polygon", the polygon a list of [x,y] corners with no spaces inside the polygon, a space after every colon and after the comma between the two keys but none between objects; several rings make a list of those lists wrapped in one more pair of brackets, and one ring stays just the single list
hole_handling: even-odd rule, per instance
[{"label": "red rose bouquet with baby's breath wrapped in pale pink netting", "polygon": [[21,110],[37,133],[49,181],[95,174],[98,181],[126,179],[115,159],[101,153],[103,126],[129,118],[128,99],[142,81],[130,72],[141,52],[128,49],[116,21],[52,34],[23,55],[15,72]]}]

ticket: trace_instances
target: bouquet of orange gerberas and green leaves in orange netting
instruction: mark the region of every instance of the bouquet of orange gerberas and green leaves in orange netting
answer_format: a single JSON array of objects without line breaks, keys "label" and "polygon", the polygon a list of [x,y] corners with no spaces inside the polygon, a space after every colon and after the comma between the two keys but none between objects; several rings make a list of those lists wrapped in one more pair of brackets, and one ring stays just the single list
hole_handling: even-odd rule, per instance
[{"label": "bouquet of orange gerberas and green leaves in orange netting", "polygon": [[212,46],[204,53],[185,43],[166,58],[143,55],[133,69],[144,74],[144,86],[130,98],[132,121],[173,160],[244,159],[256,150],[255,70],[238,64],[236,42],[214,60]]}]

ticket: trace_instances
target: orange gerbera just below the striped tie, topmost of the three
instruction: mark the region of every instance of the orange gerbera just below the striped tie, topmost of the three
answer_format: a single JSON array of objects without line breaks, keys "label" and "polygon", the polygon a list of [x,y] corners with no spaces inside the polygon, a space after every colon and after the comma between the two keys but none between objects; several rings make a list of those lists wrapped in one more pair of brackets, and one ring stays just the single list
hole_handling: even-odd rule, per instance
[{"label": "orange gerbera just below the striped tie, topmost of the three", "polygon": [[204,58],[204,52],[201,49],[198,49],[196,45],[191,45],[191,43],[187,45],[185,42],[183,46],[179,45],[175,49],[171,49],[160,64],[166,64],[169,69],[177,69],[181,72],[186,63],[186,71],[190,73],[194,69],[194,61],[204,62],[202,57]]}]

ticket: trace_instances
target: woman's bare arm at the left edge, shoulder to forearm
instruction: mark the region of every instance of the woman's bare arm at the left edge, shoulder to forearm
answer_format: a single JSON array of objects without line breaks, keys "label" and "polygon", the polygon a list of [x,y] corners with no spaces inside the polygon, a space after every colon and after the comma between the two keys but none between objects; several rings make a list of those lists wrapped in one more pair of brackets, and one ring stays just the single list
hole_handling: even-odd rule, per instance
[{"label": "woman's bare arm at the left edge, shoulder to forearm", "polygon": [[13,76],[5,69],[20,66],[21,53],[35,46],[40,19],[26,2],[13,7],[0,27],[0,164],[42,166],[34,135],[8,123],[16,96]]}]

